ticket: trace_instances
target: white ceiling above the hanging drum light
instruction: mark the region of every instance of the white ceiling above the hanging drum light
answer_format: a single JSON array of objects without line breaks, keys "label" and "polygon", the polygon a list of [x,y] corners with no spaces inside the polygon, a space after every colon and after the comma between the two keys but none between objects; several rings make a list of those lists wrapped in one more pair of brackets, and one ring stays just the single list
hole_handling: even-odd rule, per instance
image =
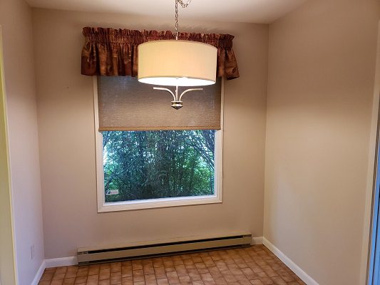
[{"label": "white ceiling above the hanging drum light", "polygon": [[[73,11],[173,16],[174,0],[26,0],[31,6]],[[271,23],[306,0],[192,0],[180,19]]]}]

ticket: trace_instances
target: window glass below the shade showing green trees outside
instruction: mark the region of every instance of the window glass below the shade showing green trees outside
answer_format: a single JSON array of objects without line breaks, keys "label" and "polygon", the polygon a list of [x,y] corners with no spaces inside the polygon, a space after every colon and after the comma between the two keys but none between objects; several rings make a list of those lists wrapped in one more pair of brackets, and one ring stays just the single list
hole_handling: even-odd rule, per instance
[{"label": "window glass below the shade showing green trees outside", "polygon": [[106,202],[214,194],[215,130],[103,132]]}]

